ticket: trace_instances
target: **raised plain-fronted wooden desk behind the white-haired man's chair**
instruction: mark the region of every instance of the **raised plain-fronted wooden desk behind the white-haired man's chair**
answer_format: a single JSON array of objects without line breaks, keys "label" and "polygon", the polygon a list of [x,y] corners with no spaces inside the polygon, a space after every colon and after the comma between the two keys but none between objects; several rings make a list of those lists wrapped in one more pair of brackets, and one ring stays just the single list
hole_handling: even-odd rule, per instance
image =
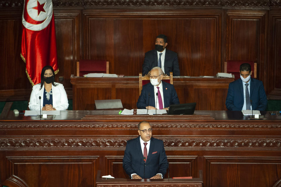
[{"label": "raised plain-fronted wooden desk behind the white-haired man's chair", "polygon": [[[73,110],[93,110],[95,100],[121,99],[126,109],[136,108],[139,78],[71,77]],[[196,110],[226,110],[225,99],[234,78],[175,77],[174,87],[180,103],[196,102]]]}]

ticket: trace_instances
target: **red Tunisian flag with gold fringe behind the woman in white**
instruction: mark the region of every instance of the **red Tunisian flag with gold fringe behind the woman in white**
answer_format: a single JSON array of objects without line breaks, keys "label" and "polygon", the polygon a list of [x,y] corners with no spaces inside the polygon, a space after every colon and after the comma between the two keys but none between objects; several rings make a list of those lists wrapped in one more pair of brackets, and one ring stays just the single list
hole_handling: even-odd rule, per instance
[{"label": "red Tunisian flag with gold fringe behind the woman in white", "polygon": [[41,82],[44,66],[59,72],[52,0],[25,0],[22,16],[21,54],[32,85]]}]

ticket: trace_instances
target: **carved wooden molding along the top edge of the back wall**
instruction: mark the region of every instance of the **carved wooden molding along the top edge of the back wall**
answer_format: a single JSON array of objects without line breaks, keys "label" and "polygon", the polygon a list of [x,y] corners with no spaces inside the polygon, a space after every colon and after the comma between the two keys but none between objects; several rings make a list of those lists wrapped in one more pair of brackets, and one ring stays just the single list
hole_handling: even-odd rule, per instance
[{"label": "carved wooden molding along the top edge of the back wall", "polygon": [[[0,8],[22,7],[23,0],[0,1]],[[53,0],[54,7],[281,7],[280,0]]]}]

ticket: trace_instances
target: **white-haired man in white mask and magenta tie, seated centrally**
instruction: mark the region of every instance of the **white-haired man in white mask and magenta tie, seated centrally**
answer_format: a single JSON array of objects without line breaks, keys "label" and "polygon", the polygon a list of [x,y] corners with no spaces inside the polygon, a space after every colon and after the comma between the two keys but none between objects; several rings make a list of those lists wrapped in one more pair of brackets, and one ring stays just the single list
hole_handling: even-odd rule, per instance
[{"label": "white-haired man in white mask and magenta tie, seated centrally", "polygon": [[[177,92],[172,84],[162,81],[163,71],[154,67],[150,71],[150,83],[143,85],[137,107],[139,109],[166,109],[171,104],[179,104]],[[157,96],[156,96],[157,94]]]}]

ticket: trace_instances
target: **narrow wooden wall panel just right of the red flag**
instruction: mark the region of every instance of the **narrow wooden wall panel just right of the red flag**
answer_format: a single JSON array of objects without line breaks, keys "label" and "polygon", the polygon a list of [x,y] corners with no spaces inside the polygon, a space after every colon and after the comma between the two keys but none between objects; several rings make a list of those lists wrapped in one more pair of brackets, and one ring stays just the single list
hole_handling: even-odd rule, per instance
[{"label": "narrow wooden wall panel just right of the red flag", "polygon": [[64,77],[64,81],[59,83],[64,88],[72,88],[70,76],[76,74],[76,61],[80,54],[80,10],[72,10],[70,13],[69,10],[55,9],[54,18],[59,65],[56,82],[59,82],[59,77]]}]

